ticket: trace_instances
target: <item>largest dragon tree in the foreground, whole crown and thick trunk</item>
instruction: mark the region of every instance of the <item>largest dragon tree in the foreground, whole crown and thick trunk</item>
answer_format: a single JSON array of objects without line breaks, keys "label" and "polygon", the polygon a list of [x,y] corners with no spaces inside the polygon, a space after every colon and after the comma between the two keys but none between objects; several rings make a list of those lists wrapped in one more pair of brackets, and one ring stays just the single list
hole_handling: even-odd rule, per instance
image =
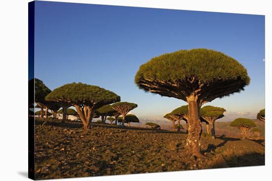
[{"label": "largest dragon tree in the foreground, whole crown and thick trunk", "polygon": [[200,107],[244,90],[249,82],[247,70],[237,60],[208,49],[180,50],[154,57],[141,65],[135,75],[140,89],[188,103],[186,150],[196,156],[200,155]]}]

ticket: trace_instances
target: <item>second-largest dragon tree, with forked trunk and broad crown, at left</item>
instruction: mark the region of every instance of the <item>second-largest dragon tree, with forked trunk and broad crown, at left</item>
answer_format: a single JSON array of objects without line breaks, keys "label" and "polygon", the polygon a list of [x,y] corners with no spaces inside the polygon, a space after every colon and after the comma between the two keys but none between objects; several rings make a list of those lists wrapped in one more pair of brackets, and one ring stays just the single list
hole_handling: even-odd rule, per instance
[{"label": "second-largest dragon tree, with forked trunk and broad crown, at left", "polygon": [[[94,109],[116,103],[120,101],[120,96],[95,85],[74,82],[54,89],[45,99],[74,106],[83,123],[83,128],[88,130],[91,129],[90,122]],[[63,117],[66,116],[64,110]]]}]

